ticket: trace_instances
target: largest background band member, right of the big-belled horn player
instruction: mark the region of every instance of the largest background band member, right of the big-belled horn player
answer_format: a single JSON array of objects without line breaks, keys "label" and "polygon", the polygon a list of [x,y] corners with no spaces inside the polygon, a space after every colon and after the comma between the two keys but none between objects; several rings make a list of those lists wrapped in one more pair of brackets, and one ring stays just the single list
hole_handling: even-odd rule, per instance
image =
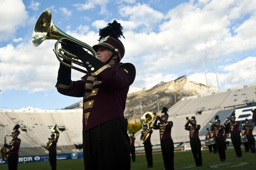
[{"label": "largest background band member, right of the big-belled horn player", "polygon": [[[167,114],[168,109],[163,107],[161,118],[157,116],[153,129],[159,129],[161,150],[163,155],[163,162],[165,169],[174,169],[174,141],[170,135],[173,127],[173,122],[168,120],[169,115]],[[157,124],[157,120],[160,123]]]}]

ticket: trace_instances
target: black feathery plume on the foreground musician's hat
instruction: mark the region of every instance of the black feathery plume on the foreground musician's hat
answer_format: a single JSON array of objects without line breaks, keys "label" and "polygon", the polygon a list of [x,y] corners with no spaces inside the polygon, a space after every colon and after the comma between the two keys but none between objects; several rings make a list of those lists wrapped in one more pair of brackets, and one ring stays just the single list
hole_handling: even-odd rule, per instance
[{"label": "black feathery plume on the foreground musician's hat", "polygon": [[112,23],[108,23],[105,28],[99,29],[99,40],[109,35],[113,38],[120,38],[121,36],[124,38],[122,30],[121,24],[114,20]]}]

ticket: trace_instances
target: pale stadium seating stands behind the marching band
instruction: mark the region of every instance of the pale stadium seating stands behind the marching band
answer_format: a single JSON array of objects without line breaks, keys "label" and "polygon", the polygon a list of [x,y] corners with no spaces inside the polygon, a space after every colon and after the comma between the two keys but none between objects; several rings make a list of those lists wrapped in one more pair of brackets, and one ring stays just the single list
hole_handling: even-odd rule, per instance
[{"label": "pale stadium seating stands behind the marching band", "polygon": [[[201,125],[200,139],[204,140],[209,122],[215,122],[215,115],[219,115],[223,124],[226,117],[236,113],[239,121],[251,119],[251,110],[256,108],[254,103],[256,84],[225,89],[216,92],[189,96],[168,108],[169,121],[173,121],[172,138],[175,147],[189,141],[188,131],[184,129],[185,117],[196,116],[197,124]],[[10,135],[16,124],[20,125],[22,140],[20,156],[46,155],[45,149],[50,137],[51,128],[57,124],[60,136],[57,143],[57,153],[82,152],[82,109],[75,110],[11,110],[0,109],[0,146],[4,144],[4,136]],[[5,126],[7,125],[7,126]],[[135,134],[136,151],[143,150],[140,141],[141,131]],[[253,131],[255,133],[255,131]],[[7,137],[7,142],[11,137]],[[160,135],[154,130],[151,142],[153,149],[159,150]]]}]

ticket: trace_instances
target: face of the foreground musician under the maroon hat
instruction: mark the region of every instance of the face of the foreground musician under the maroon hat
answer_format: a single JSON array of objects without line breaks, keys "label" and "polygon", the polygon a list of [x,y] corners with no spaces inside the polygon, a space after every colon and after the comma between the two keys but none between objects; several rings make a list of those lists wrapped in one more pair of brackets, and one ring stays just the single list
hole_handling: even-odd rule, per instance
[{"label": "face of the foreground musician under the maroon hat", "polygon": [[[110,50],[110,48],[108,48],[108,47],[100,46],[97,48],[96,54],[100,61],[102,61],[103,63],[106,63],[112,56],[113,51]],[[109,64],[110,65],[115,64],[115,62],[114,62],[115,59],[117,59],[116,55],[112,58],[112,60],[109,62]]]}]

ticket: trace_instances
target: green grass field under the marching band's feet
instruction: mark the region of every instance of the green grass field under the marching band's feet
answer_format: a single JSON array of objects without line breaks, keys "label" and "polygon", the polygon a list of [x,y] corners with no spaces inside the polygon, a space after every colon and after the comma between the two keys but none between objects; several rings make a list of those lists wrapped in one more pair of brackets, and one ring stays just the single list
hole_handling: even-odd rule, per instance
[{"label": "green grass field under the marching band's feet", "polygon": [[[244,152],[242,147],[241,158],[237,158],[233,148],[226,150],[226,161],[220,162],[219,155],[209,153],[208,150],[202,151],[203,166],[195,167],[195,161],[190,151],[175,152],[174,163],[175,169],[232,169],[232,170],[245,170],[256,169],[256,154],[251,152]],[[137,154],[136,161],[131,163],[131,169],[146,169],[146,157],[144,154]],[[1,170],[7,170],[7,165],[0,165]],[[19,170],[50,170],[51,166],[49,162],[37,162],[37,163],[23,163],[18,164]],[[60,160],[57,161],[57,169],[59,170],[80,170],[83,169],[83,161],[79,160]],[[164,169],[163,159],[161,153],[153,153],[153,169]]]}]

